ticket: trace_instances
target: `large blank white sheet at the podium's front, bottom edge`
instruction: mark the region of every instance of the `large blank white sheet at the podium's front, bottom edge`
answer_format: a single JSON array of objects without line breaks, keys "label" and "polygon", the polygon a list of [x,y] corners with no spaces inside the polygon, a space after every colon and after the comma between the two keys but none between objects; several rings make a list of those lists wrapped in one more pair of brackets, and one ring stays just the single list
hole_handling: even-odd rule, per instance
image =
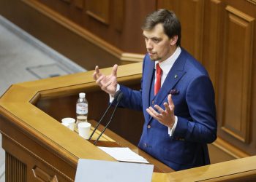
[{"label": "large blank white sheet at the podium's front, bottom edge", "polygon": [[75,182],[151,182],[153,169],[148,164],[79,159]]}]

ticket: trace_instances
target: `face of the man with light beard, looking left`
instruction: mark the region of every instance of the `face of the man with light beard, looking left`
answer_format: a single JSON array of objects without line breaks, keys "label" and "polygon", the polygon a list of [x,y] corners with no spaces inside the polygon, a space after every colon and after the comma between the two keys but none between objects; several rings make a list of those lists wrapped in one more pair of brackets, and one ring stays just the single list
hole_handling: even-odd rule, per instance
[{"label": "face of the man with light beard, looking left", "polygon": [[155,25],[150,31],[143,31],[145,37],[146,49],[151,60],[159,60],[162,62],[170,57],[175,51],[173,45],[173,39],[165,34],[164,28],[161,23]]}]

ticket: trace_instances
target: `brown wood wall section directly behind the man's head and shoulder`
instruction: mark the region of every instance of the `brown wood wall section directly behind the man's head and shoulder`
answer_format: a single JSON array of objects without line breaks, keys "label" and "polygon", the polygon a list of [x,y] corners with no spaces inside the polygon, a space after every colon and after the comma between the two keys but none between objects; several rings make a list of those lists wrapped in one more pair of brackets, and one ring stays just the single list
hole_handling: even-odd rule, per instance
[{"label": "brown wood wall section directly behind the man's head and shoulder", "polygon": [[197,60],[202,61],[203,48],[203,0],[157,1],[158,8],[173,10],[181,21],[181,46]]}]

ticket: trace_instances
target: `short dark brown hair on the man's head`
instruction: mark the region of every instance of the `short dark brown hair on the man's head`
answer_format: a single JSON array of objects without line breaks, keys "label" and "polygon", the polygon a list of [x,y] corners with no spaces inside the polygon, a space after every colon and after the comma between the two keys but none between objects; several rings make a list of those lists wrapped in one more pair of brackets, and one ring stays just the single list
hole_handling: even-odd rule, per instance
[{"label": "short dark brown hair on the man's head", "polygon": [[178,36],[176,45],[181,45],[181,23],[174,12],[167,9],[158,9],[147,15],[141,28],[143,31],[151,31],[155,25],[162,23],[165,34],[172,38]]}]

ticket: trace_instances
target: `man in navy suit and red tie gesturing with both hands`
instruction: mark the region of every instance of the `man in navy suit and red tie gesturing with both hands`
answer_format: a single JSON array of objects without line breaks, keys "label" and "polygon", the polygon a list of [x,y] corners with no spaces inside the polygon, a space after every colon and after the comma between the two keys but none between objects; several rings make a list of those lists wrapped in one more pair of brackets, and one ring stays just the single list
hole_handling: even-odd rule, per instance
[{"label": "man in navy suit and red tie gesturing with both hands", "polygon": [[173,170],[208,165],[207,143],[217,138],[214,88],[208,73],[181,48],[181,24],[173,12],[151,13],[142,29],[148,53],[141,90],[117,83],[117,65],[108,76],[96,66],[94,79],[112,97],[121,90],[121,106],[143,111],[140,149]]}]

